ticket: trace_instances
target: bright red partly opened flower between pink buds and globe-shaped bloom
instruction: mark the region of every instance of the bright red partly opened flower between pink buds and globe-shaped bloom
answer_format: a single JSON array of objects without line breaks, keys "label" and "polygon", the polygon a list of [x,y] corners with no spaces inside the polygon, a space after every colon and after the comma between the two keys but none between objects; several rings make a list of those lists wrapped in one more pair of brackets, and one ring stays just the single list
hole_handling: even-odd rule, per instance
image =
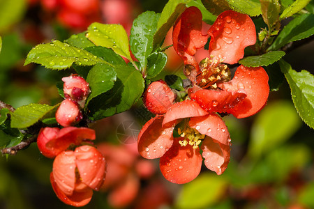
[{"label": "bright red partly opened flower between pink buds and globe-shaped bloom", "polygon": [[80,145],[84,139],[96,139],[95,131],[87,127],[45,127],[40,130],[37,146],[45,157],[56,157],[71,144]]}]

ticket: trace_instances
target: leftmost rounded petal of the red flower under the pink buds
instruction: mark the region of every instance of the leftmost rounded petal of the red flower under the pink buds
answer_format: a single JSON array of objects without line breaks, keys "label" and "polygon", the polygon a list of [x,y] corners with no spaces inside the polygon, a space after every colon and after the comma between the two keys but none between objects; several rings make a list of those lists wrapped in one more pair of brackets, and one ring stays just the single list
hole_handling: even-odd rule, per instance
[{"label": "leftmost rounded petal of the red flower under the pink buds", "polygon": [[59,150],[59,148],[54,148],[47,146],[50,141],[53,141],[57,138],[57,134],[60,129],[58,127],[45,127],[42,128],[37,137],[37,146],[45,157],[54,158],[63,150]]}]

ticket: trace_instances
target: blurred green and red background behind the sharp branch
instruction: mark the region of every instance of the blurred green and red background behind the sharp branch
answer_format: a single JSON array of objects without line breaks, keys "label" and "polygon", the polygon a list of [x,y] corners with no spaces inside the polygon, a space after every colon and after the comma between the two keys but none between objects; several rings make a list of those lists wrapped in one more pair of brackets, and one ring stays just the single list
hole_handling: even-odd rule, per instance
[{"label": "blurred green and red background behind the sharp branch", "polygon": [[[165,0],[0,0],[0,100],[17,108],[31,102],[57,104],[56,82],[73,70],[52,71],[23,66],[31,47],[65,40],[92,22],[122,24],[130,31],[145,10],[161,12]],[[312,2],[313,3],[313,2]],[[171,36],[165,46],[171,45]],[[183,63],[166,51],[165,73],[181,73]],[[314,41],[284,57],[294,70],[312,74]],[[273,72],[278,72],[276,65]],[[249,118],[225,116],[232,155],[223,175],[202,168],[186,185],[167,182],[158,160],[137,154],[137,134],[151,114],[138,104],[130,111],[92,123],[99,150],[107,160],[107,180],[83,208],[314,208],[314,130],[299,118],[290,88],[272,91],[266,107]],[[36,144],[0,158],[0,208],[72,208],[54,194],[49,174],[52,160]]]}]

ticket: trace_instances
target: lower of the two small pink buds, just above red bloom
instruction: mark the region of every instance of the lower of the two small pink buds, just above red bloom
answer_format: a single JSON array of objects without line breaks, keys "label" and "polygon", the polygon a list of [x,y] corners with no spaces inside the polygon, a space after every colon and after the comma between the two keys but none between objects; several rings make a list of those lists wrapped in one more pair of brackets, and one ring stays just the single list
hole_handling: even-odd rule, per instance
[{"label": "lower of the two small pink buds, just above red bloom", "polygon": [[63,100],[56,112],[57,122],[64,127],[74,125],[82,118],[78,105],[70,98]]}]

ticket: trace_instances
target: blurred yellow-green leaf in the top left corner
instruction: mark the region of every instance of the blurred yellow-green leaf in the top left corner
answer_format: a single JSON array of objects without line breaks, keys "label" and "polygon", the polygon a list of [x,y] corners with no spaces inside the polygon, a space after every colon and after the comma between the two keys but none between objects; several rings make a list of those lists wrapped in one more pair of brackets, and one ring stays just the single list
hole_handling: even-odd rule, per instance
[{"label": "blurred yellow-green leaf in the top left corner", "polygon": [[22,20],[26,8],[25,0],[0,1],[0,32]]}]

